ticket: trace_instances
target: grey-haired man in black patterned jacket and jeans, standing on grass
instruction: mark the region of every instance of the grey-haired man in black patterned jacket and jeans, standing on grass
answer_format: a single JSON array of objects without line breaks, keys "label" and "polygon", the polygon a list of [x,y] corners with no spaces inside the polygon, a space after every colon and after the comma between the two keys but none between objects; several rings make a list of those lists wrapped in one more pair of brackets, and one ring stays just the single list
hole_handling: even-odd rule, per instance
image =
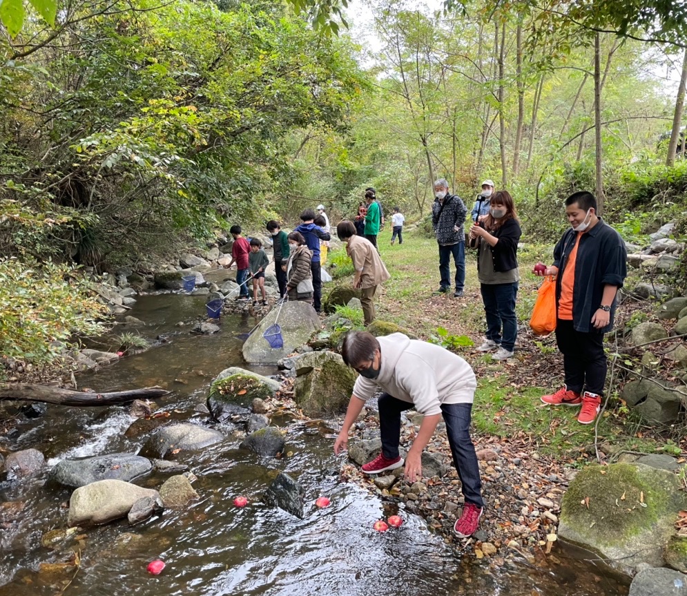
[{"label": "grey-haired man in black patterned jacket and jeans, standing on grass", "polygon": [[449,194],[449,183],[444,178],[434,182],[432,204],[432,228],[439,244],[439,274],[441,282],[438,291],[451,289],[451,255],[456,263],[456,291],[454,296],[463,296],[465,287],[465,232],[463,224],[467,209],[458,195]]}]

